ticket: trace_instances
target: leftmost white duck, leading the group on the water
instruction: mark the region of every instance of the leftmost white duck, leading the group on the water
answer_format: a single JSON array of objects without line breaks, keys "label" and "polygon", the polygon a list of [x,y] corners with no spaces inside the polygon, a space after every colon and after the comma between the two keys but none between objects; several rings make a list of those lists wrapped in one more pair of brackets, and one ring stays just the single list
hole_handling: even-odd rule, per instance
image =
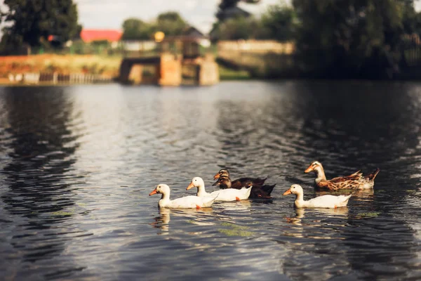
[{"label": "leftmost white duck, leading the group on the water", "polygon": [[170,187],[166,184],[159,184],[156,188],[149,193],[149,196],[154,194],[161,194],[161,200],[158,202],[159,208],[204,208],[212,206],[215,202],[216,195],[214,197],[197,197],[197,196],[185,196],[170,200]]}]

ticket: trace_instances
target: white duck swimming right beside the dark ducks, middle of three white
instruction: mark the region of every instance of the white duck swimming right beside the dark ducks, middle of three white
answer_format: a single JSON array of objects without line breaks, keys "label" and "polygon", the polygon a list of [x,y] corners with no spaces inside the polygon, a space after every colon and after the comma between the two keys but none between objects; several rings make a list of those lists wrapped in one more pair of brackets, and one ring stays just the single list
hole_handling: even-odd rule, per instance
[{"label": "white duck swimming right beside the dark ducks, middle of three white", "polygon": [[205,183],[203,182],[203,179],[199,176],[196,176],[192,179],[192,182],[187,186],[186,190],[189,190],[190,188],[197,188],[197,196],[198,197],[215,197],[216,201],[235,201],[235,200],[244,200],[247,199],[250,196],[251,192],[251,186],[250,188],[241,188],[241,189],[235,189],[235,188],[227,188],[222,190],[216,190],[212,193],[208,193],[205,190]]}]

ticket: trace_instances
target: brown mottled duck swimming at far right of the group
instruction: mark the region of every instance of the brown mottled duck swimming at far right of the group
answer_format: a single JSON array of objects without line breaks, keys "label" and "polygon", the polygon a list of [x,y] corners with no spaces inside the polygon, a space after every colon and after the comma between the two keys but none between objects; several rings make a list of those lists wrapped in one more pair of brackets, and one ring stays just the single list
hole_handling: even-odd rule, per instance
[{"label": "brown mottled duck swimming at far right of the group", "polygon": [[356,171],[354,174],[349,176],[340,176],[338,178],[327,180],[321,163],[314,161],[304,172],[309,173],[311,171],[314,171],[314,174],[316,174],[314,183],[317,187],[327,188],[329,190],[339,190],[373,188],[375,176],[377,176],[380,169],[377,168],[373,174],[368,174],[367,176],[363,176],[361,171]]}]

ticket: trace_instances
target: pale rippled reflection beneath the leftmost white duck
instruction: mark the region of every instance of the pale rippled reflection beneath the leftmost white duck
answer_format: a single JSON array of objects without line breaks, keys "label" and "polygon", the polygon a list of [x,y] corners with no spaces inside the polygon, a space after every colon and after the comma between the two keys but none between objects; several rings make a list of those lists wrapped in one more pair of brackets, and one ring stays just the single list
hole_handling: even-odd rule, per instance
[{"label": "pale rippled reflection beneath the leftmost white duck", "polygon": [[201,209],[168,209],[159,208],[159,216],[154,218],[154,222],[150,223],[153,228],[159,230],[158,235],[168,235],[170,233],[171,216],[188,218],[189,223],[198,226],[209,226],[214,223],[207,222],[208,214],[213,214],[212,208]]}]

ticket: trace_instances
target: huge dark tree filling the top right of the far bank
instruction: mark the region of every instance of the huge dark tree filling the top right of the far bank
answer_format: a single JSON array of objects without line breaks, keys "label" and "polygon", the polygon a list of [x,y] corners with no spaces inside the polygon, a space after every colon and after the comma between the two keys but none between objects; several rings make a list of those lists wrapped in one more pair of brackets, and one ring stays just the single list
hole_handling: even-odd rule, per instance
[{"label": "huge dark tree filling the top right of the far bank", "polygon": [[367,76],[396,64],[413,1],[293,0],[293,6],[305,65],[328,76]]}]

